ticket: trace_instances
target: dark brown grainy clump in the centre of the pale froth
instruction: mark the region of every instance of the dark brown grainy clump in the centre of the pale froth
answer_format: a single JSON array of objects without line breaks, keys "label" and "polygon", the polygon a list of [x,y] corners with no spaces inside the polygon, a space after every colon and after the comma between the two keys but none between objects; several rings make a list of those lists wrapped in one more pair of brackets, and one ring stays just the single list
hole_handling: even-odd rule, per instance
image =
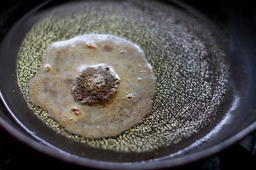
[{"label": "dark brown grainy clump in the centre of the pale froth", "polygon": [[75,80],[73,96],[81,103],[103,102],[111,98],[119,79],[110,68],[87,67]]}]

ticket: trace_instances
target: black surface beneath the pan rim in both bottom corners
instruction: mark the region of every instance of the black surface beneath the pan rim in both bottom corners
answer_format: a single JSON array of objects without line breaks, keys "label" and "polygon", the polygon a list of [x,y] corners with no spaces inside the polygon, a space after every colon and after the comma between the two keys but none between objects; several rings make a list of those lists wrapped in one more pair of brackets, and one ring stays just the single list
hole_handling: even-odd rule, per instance
[{"label": "black surface beneath the pan rim in both bottom corners", "polygon": [[[37,169],[91,169],[80,167],[47,156],[17,141],[0,128],[0,170]],[[36,166],[36,167],[35,167]],[[209,158],[193,162],[172,170],[255,170],[256,169],[256,130],[227,149]]]}]

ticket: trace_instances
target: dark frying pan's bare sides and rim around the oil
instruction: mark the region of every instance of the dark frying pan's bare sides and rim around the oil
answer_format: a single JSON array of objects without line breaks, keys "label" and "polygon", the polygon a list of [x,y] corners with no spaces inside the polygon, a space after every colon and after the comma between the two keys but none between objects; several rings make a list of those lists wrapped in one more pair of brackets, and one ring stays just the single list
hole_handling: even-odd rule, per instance
[{"label": "dark frying pan's bare sides and rim around the oil", "polygon": [[[54,6],[58,3],[60,2],[43,2],[38,6],[37,3],[28,4],[26,1],[10,2],[8,8],[3,10],[1,17],[0,125],[21,142],[49,156],[86,167],[156,169],[177,167],[218,153],[238,142],[256,128],[256,50],[254,48],[256,45],[256,39],[254,38],[256,35],[256,17],[253,8],[249,8],[250,4],[230,4],[228,1],[212,4],[196,1],[191,6],[207,12],[207,16],[214,20],[216,24],[219,22],[222,27],[227,28],[224,30],[225,34],[228,35],[227,63],[230,75],[228,81],[233,91],[232,95],[226,100],[232,105],[221,107],[226,113],[221,115],[223,120],[220,118],[217,122],[209,123],[195,137],[189,138],[191,141],[175,146],[178,148],[177,150],[168,150],[168,147],[160,148],[160,150],[157,150],[158,152],[163,150],[170,152],[170,155],[163,154],[162,156],[156,155],[155,150],[151,152],[116,152],[88,146],[80,147],[81,145],[76,147],[76,142],[72,142],[66,136],[56,135],[54,130],[46,127],[37,116],[32,114],[17,85],[15,63],[24,34],[15,34],[12,29],[17,28],[15,23],[21,15],[26,13],[26,17],[38,9]],[[159,1],[159,3],[162,3],[162,1]],[[181,1],[172,1],[168,4],[190,12],[190,7],[187,7]],[[12,18],[12,20],[9,20],[9,18]],[[31,25],[35,23],[33,20],[30,20],[30,22]],[[23,29],[26,30],[26,28]],[[11,42],[13,36],[17,41]],[[239,100],[235,100],[234,96],[240,96]],[[26,119],[24,119],[24,116],[26,116]],[[189,144],[193,144],[197,140],[200,141],[207,134],[210,134],[209,140],[207,139],[206,142],[201,142],[200,145],[179,154],[179,149],[183,150]],[[79,150],[84,150],[85,155],[80,154]],[[175,153],[177,153],[177,156],[175,156]]]}]

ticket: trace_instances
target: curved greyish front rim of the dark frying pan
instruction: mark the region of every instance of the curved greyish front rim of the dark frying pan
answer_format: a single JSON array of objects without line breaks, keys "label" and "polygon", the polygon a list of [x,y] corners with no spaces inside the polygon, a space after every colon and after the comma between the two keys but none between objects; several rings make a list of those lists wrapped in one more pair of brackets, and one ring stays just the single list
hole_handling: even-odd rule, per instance
[{"label": "curved greyish front rim of the dark frying pan", "polygon": [[[0,102],[3,103],[3,106],[6,107],[8,112],[10,112],[8,106],[6,106],[6,103],[4,102],[3,96],[1,95],[1,90],[0,90]],[[3,108],[0,109],[0,112],[2,114],[5,114],[2,109]],[[213,147],[209,147],[205,150],[202,150],[196,153],[192,153],[192,154],[177,157],[177,158],[159,160],[159,161],[157,159],[151,159],[149,161],[123,162],[123,163],[81,158],[79,156],[67,153],[64,150],[50,147],[48,144],[46,145],[44,143],[38,142],[36,139],[33,139],[32,136],[29,136],[29,134],[27,134],[26,136],[24,134],[25,132],[24,133],[20,132],[15,127],[13,127],[8,122],[6,122],[2,117],[0,117],[0,127],[2,127],[6,132],[8,132],[15,139],[35,149],[36,151],[71,164],[76,164],[84,167],[99,168],[99,169],[117,170],[122,168],[124,170],[126,169],[127,170],[128,169],[152,170],[152,169],[159,169],[159,168],[179,167],[179,166],[183,166],[183,165],[207,158],[209,156],[212,156],[220,152],[221,150],[224,150],[225,148],[231,146],[232,144],[239,142],[245,136],[250,134],[253,130],[256,129],[256,122],[253,122],[251,125],[244,128],[239,133],[230,137],[229,139],[226,139],[223,142],[217,145],[214,145]]]}]

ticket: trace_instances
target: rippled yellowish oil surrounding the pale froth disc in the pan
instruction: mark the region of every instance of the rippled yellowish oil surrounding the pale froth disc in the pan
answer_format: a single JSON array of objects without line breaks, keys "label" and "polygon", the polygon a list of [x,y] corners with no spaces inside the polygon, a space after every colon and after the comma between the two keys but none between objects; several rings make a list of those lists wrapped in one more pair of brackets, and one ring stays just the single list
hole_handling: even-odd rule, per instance
[{"label": "rippled yellowish oil surrounding the pale froth disc in the pan", "polygon": [[[224,105],[229,105],[227,37],[205,16],[195,14],[151,0],[78,1],[41,11],[38,16],[43,17],[27,32],[18,53],[17,77],[24,98],[49,127],[91,147],[154,151],[155,157],[175,153],[215,127],[224,116]],[[49,45],[82,34],[111,34],[134,42],[156,76],[151,113],[142,124],[113,138],[91,140],[69,133],[29,99],[28,82]]]}]

